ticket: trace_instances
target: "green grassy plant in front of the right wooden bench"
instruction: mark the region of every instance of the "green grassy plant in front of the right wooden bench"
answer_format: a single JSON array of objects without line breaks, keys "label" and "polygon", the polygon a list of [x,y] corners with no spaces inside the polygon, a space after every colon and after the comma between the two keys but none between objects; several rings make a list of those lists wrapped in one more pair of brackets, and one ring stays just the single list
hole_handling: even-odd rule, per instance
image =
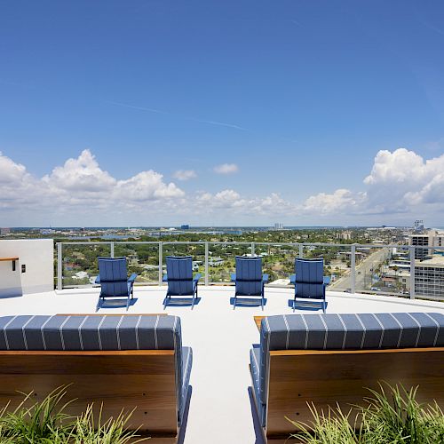
[{"label": "green grassy plant in front of the right wooden bench", "polygon": [[291,438],[306,444],[444,444],[444,414],[436,402],[419,403],[417,390],[379,385],[346,413],[339,406],[324,412],[309,405],[310,424],[287,418],[298,430]]}]

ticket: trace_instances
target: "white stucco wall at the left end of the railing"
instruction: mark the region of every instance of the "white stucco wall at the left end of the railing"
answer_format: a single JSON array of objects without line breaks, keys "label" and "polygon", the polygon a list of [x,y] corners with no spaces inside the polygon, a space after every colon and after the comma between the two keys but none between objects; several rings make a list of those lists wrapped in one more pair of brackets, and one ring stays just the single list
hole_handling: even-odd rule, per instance
[{"label": "white stucco wall at the left end of the railing", "polygon": [[[0,241],[0,258],[14,258],[12,262],[0,261],[0,297],[21,296],[54,289],[54,253],[52,239]],[[26,273],[21,273],[21,266]]]}]

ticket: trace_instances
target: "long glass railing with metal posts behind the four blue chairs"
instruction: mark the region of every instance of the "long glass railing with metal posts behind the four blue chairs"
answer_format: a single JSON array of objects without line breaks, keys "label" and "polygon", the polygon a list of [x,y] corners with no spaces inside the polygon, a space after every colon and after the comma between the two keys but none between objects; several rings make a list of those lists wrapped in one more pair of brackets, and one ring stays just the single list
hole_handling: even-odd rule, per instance
[{"label": "long glass railing with metal posts behind the four blue chairs", "polygon": [[[289,287],[295,258],[323,258],[329,291],[444,300],[444,247],[275,242],[59,242],[57,288],[92,287],[97,258],[125,257],[137,285],[162,285],[167,256],[191,256],[205,285],[228,284],[236,256],[261,256],[269,286]],[[418,259],[420,258],[420,259]]]}]

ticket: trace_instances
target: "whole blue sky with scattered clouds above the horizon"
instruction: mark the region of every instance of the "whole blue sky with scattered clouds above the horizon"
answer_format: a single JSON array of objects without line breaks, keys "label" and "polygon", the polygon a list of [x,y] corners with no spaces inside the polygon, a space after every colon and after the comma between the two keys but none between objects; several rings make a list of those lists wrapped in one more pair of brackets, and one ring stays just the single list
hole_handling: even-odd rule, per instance
[{"label": "whole blue sky with scattered clouds above the horizon", "polygon": [[[441,1],[0,0],[0,224],[444,225],[431,197],[444,190],[443,23]],[[408,154],[393,157],[399,147]],[[28,187],[46,176],[40,193],[60,194],[53,170],[84,149],[77,176],[96,165],[115,182],[74,182],[75,202],[61,194],[53,213],[10,189],[23,167]],[[398,157],[406,175],[393,178]],[[424,171],[406,187],[418,157]],[[225,163],[231,173],[215,172]],[[147,170],[163,178],[134,185],[146,211],[109,223],[94,205],[115,193],[106,184]],[[162,191],[170,183],[177,192]],[[183,210],[202,195],[222,206]]]}]

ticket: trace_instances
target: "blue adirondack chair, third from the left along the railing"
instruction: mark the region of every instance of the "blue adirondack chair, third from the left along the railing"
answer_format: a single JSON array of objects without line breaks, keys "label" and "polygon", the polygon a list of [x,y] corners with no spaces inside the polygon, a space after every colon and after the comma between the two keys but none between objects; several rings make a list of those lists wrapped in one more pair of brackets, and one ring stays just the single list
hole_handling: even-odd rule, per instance
[{"label": "blue adirondack chair, third from the left along the railing", "polygon": [[236,256],[236,273],[231,274],[231,281],[235,282],[233,310],[238,296],[260,296],[260,305],[264,310],[264,284],[268,282],[268,274],[262,274],[261,257]]}]

